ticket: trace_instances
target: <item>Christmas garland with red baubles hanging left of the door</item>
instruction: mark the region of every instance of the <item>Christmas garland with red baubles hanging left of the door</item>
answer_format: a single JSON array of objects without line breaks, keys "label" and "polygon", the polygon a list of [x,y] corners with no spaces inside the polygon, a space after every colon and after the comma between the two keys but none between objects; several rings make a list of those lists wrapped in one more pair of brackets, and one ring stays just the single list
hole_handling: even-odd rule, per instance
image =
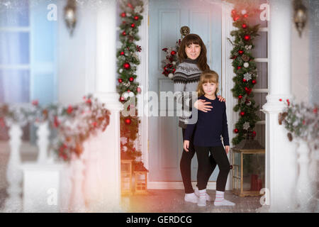
[{"label": "Christmas garland with red baubles hanging left of the door", "polygon": [[[138,157],[140,159],[142,153],[135,150],[135,140],[138,138],[138,128],[140,118],[138,118],[138,110],[136,109],[137,100],[136,95],[141,92],[138,82],[135,79],[137,66],[140,65],[137,52],[142,48],[135,44],[135,41],[140,40],[138,35],[138,27],[142,22],[143,1],[119,1],[121,8],[121,25],[119,39],[121,41],[121,48],[117,50],[117,67],[118,67],[118,86],[117,91],[120,94],[120,101],[125,106],[129,116],[120,115],[121,123],[121,157],[123,153],[125,157]],[[135,168],[140,169],[142,162],[138,160],[135,163]]]}]

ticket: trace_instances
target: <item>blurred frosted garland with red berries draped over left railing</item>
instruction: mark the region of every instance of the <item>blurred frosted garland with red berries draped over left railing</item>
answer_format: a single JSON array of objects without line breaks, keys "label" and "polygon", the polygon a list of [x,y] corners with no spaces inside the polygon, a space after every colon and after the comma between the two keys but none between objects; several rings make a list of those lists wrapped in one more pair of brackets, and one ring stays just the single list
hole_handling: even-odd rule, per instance
[{"label": "blurred frosted garland with red berries draped over left railing", "polygon": [[0,106],[0,127],[13,123],[23,127],[28,123],[49,122],[57,130],[57,138],[51,141],[50,150],[54,150],[59,159],[69,161],[72,154],[78,157],[83,152],[83,143],[97,131],[105,131],[109,123],[110,112],[91,95],[84,96],[77,105],[60,106],[50,104],[39,106],[38,101],[24,106]]}]

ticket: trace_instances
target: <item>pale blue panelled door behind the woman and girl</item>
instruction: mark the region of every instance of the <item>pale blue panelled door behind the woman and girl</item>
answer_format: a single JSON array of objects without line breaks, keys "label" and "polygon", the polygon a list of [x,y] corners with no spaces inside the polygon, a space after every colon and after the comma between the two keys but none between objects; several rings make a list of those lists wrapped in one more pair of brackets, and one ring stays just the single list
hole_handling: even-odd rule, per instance
[{"label": "pale blue panelled door behind the woman and girl", "polygon": [[[174,46],[181,38],[181,26],[201,36],[208,49],[208,65],[221,75],[221,4],[220,1],[150,0],[149,5],[149,91],[174,91],[171,79],[162,74],[162,48]],[[220,83],[221,84],[221,83]],[[159,97],[159,95],[158,95]],[[160,105],[158,105],[160,106]],[[159,110],[160,111],[160,110]],[[182,153],[181,128],[178,118],[149,118],[149,179],[181,181],[179,161]],[[218,167],[211,176],[215,181]],[[196,181],[197,158],[192,160],[191,177]]]}]

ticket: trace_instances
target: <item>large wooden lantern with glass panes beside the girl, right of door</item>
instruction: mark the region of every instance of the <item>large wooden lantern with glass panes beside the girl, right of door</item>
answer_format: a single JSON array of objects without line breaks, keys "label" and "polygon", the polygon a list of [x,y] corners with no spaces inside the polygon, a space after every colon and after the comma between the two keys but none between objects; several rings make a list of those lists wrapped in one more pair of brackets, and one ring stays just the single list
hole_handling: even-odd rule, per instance
[{"label": "large wooden lantern with glass panes beside the girl, right of door", "polygon": [[252,133],[232,148],[233,193],[237,196],[260,196],[264,188],[264,147]]}]

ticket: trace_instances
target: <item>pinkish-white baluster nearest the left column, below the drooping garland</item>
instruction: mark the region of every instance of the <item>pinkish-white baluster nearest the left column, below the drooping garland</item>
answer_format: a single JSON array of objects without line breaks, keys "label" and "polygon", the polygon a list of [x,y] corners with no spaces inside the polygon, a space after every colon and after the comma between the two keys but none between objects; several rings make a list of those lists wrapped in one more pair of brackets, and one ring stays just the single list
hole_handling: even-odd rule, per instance
[{"label": "pinkish-white baluster nearest the left column, below the drooping garland", "polygon": [[84,179],[84,165],[82,159],[76,155],[72,156],[72,192],[69,203],[69,211],[71,212],[85,212],[85,202],[83,193],[83,179]]}]

